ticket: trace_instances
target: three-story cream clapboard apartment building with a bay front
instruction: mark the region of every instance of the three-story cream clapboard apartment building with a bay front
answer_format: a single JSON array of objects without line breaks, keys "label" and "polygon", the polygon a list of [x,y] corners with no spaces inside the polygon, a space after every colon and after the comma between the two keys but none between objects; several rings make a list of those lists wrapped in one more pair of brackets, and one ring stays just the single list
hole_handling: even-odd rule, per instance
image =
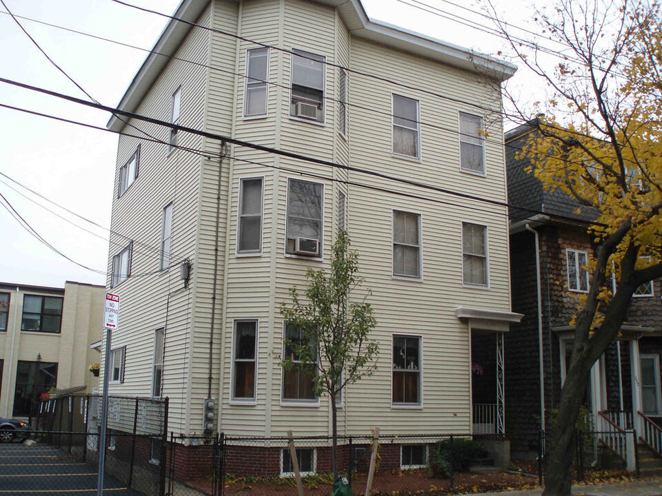
[{"label": "three-story cream clapboard apartment building with a bay front", "polygon": [[283,372],[279,308],[345,227],[380,355],[345,392],[341,433],[470,431],[472,332],[520,317],[507,209],[472,198],[506,201],[514,66],[371,21],[359,0],[185,0],[174,17],[196,25],[168,24],[119,107],[208,134],[108,123],[123,133],[110,393],[169,397],[175,433],[203,432],[205,398],[228,435],[330,433],[328,398]]}]

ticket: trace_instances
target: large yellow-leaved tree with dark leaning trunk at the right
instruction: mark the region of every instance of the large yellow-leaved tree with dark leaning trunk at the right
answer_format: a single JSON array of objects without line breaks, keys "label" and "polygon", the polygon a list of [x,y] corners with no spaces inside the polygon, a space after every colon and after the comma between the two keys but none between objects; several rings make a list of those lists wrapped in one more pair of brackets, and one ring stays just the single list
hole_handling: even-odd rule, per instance
[{"label": "large yellow-leaved tree with dark leaning trunk at the right", "polygon": [[521,156],[546,189],[599,212],[543,493],[569,496],[568,453],[590,369],[619,335],[634,291],[662,276],[662,23],[657,3],[627,0],[557,0],[536,21],[561,47],[553,69],[540,45],[516,40],[497,21],[520,64],[550,92],[532,114],[518,109],[525,119],[538,115]]}]

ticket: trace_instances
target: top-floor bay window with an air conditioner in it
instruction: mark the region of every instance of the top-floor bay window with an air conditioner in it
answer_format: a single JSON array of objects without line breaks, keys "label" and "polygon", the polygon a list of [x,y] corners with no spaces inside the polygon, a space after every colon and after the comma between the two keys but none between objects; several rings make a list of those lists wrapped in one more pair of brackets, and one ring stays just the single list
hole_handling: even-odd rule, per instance
[{"label": "top-floor bay window with an air conditioner in it", "polygon": [[292,49],[290,116],[324,122],[324,57]]}]

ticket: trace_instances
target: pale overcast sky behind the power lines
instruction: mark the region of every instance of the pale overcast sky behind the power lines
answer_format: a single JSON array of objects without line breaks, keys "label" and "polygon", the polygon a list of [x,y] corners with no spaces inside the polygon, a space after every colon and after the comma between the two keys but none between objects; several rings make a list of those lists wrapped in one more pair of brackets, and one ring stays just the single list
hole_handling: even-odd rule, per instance
[{"label": "pale overcast sky behind the power lines", "polygon": [[[4,1],[14,14],[146,49],[152,48],[167,20],[110,0]],[[128,1],[167,14],[172,14],[179,4],[179,0]],[[423,2],[417,0],[364,0],[363,5],[370,17],[408,30],[479,52],[494,54],[503,50],[503,41],[439,14],[452,12],[483,24],[489,23],[487,19],[454,8],[445,0],[424,1],[432,8],[421,9]],[[530,11],[521,5],[515,7],[518,15],[509,14],[509,21],[514,19],[525,25],[528,21],[523,10]],[[1,6],[0,11],[5,12]],[[141,50],[19,20],[41,48],[103,105],[117,105],[146,57]],[[0,13],[0,74],[6,79],[86,98],[46,60],[6,13]],[[106,126],[109,118],[106,112],[6,83],[0,83],[0,104],[101,127]],[[115,134],[0,107],[0,172],[104,227],[110,226],[116,147]],[[5,176],[0,176],[0,194],[50,245],[81,265],[106,272],[108,231],[71,216]],[[0,203],[4,203],[2,198]],[[54,253],[21,227],[8,209],[0,207],[0,282],[62,287],[65,280],[75,280],[104,285],[106,277],[101,273],[74,265]]]}]

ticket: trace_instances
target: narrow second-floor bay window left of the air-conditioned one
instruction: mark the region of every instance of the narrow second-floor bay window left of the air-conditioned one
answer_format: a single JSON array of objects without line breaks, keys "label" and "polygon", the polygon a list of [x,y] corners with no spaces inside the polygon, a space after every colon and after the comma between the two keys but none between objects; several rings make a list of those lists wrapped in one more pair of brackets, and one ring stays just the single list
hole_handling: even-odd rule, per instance
[{"label": "narrow second-floor bay window left of the air-conditioned one", "polygon": [[262,250],[262,178],[239,183],[237,253],[259,254]]}]

